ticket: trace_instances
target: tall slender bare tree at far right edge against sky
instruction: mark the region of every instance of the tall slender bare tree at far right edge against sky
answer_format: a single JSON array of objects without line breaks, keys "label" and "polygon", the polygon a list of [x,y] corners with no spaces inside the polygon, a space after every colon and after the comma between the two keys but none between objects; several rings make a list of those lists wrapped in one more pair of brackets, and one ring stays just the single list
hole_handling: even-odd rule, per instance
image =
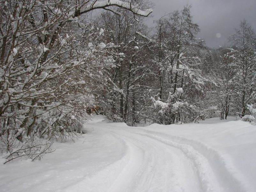
[{"label": "tall slender bare tree at far right edge against sky", "polygon": [[235,49],[229,49],[227,58],[234,73],[231,81],[235,85],[236,106],[243,117],[247,112],[247,105],[255,103],[256,99],[256,35],[252,27],[243,21],[240,29],[232,35]]}]

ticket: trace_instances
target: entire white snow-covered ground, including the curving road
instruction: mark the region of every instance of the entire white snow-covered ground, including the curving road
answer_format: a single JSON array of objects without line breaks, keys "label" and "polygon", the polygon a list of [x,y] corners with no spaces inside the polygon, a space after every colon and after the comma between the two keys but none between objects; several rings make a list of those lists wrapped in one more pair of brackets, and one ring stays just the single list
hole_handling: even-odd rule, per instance
[{"label": "entire white snow-covered ground, including the curving road", "polygon": [[255,192],[256,126],[241,121],[128,127],[96,115],[76,143],[0,165],[0,191]]}]

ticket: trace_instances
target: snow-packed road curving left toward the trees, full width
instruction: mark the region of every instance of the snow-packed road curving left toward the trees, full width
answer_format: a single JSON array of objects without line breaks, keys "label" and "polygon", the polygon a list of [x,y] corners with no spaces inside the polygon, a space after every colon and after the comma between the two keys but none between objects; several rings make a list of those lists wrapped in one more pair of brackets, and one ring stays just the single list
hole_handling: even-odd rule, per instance
[{"label": "snow-packed road curving left toward the trees, full width", "polygon": [[125,145],[122,157],[125,163],[109,192],[251,191],[247,183],[229,171],[217,151],[201,143],[143,128],[129,128],[124,123],[97,122],[95,127]]}]

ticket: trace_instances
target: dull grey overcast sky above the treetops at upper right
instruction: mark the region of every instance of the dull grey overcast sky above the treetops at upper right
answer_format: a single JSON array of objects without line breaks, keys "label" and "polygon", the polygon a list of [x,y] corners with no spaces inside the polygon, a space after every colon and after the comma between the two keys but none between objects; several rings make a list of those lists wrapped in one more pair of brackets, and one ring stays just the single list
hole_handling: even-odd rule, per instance
[{"label": "dull grey overcast sky above the treetops at upper right", "polygon": [[199,24],[200,38],[205,39],[209,47],[225,44],[234,28],[238,28],[242,19],[246,19],[256,31],[256,0],[151,0],[155,7],[153,18],[147,23],[153,26],[153,20],[165,13],[181,10],[185,4],[192,5],[194,22]]}]

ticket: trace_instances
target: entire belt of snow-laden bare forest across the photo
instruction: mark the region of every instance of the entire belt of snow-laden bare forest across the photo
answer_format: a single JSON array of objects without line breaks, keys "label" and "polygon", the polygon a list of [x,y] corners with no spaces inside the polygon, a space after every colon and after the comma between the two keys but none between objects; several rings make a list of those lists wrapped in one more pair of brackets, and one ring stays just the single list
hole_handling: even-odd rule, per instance
[{"label": "entire belt of snow-laden bare forest across the photo", "polygon": [[[186,5],[145,24],[146,0],[0,1],[0,152],[51,152],[111,122],[255,122],[256,36],[241,18],[229,46],[208,48]],[[98,10],[97,13],[95,11]]]}]

